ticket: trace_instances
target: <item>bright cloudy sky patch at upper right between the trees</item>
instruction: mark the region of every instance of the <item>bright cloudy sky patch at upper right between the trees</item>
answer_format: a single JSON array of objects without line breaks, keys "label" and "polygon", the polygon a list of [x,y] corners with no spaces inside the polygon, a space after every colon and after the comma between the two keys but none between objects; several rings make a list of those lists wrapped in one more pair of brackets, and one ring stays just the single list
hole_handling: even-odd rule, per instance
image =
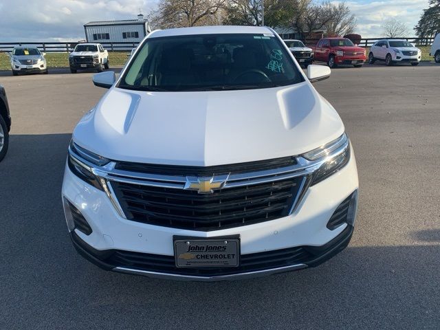
[{"label": "bright cloudy sky patch at upper right between the trees", "polygon": [[382,36],[382,24],[391,18],[405,23],[410,36],[415,36],[412,29],[419,21],[423,9],[428,8],[428,0],[350,0],[346,3],[358,18],[357,32],[364,38]]}]

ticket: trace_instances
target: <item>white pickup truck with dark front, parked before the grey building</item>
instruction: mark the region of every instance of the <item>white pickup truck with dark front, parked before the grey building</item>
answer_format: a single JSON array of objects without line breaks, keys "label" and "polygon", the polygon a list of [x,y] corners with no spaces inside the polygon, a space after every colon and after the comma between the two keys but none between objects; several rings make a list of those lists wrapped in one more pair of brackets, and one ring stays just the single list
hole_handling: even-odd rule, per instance
[{"label": "white pickup truck with dark front, parked before the grey building", "polygon": [[100,43],[80,43],[69,54],[70,72],[78,69],[96,69],[98,72],[109,69],[109,53]]}]

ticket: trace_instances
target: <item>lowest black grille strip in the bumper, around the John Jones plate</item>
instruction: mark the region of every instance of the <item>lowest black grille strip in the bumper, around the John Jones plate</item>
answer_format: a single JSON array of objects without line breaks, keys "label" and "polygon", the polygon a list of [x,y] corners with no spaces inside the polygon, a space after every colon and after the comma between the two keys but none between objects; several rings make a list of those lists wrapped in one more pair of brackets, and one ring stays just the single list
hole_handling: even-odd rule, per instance
[{"label": "lowest black grille strip in the bumper, around the John Jones plate", "polygon": [[295,265],[309,261],[313,256],[314,254],[307,252],[305,248],[296,247],[253,254],[243,254],[241,255],[239,267],[234,268],[177,268],[175,267],[174,256],[117,250],[109,256],[105,262],[118,267],[129,267],[131,269],[146,270],[150,272],[164,272],[167,274],[192,276],[221,276]]}]

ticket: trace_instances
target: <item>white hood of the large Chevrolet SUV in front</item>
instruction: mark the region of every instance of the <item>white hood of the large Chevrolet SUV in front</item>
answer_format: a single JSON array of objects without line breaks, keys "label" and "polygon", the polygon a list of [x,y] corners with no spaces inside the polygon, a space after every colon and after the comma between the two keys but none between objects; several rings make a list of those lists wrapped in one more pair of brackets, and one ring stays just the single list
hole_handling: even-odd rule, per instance
[{"label": "white hood of the large Chevrolet SUV in front", "polygon": [[74,141],[114,160],[210,166],[298,155],[344,132],[308,82],[241,91],[112,88],[74,129]]}]

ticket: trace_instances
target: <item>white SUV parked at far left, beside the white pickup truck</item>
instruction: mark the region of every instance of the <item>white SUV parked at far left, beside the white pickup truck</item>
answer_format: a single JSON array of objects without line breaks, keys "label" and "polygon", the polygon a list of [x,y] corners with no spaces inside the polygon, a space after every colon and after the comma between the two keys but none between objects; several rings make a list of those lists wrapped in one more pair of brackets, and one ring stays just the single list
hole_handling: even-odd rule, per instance
[{"label": "white SUV parked at far left, beside the white pickup truck", "polygon": [[14,47],[10,54],[12,74],[47,74],[45,53],[37,47]]}]

